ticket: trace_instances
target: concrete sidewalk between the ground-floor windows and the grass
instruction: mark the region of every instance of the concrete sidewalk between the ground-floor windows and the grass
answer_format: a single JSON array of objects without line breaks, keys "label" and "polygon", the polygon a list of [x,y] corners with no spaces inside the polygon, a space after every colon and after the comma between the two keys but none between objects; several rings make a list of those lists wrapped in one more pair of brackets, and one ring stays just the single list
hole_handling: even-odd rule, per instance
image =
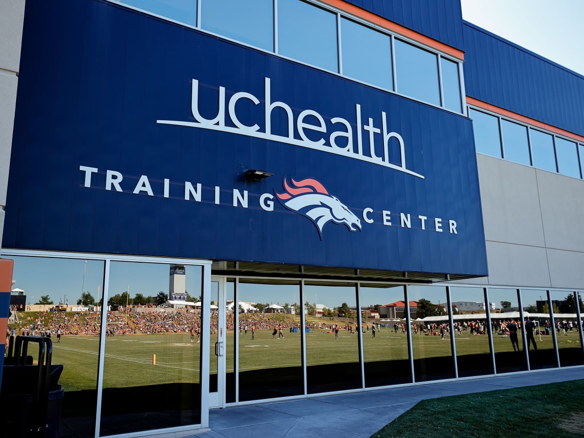
[{"label": "concrete sidewalk between the ground-floor windows and the grass", "polygon": [[211,430],[191,438],[369,437],[420,400],[584,378],[584,367],[425,383],[215,409]]}]

